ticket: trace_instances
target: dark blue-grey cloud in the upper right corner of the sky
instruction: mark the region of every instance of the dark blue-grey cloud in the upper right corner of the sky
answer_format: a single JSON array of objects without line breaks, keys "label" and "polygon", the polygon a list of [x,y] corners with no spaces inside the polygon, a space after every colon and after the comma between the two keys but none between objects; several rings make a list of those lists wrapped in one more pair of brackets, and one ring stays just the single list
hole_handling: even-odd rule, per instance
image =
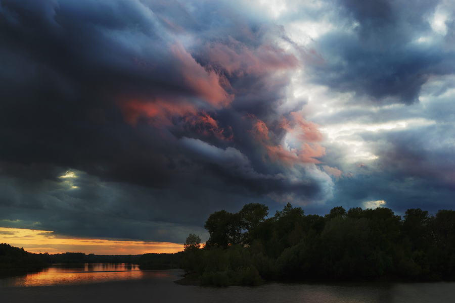
[{"label": "dark blue-grey cloud in the upper right corner of the sky", "polygon": [[386,0],[340,4],[340,21],[351,28],[319,39],[327,63],[315,69],[319,83],[353,91],[359,99],[411,104],[429,76],[450,74],[455,68],[453,51],[418,42],[431,35],[429,19],[437,2],[412,7]]}]

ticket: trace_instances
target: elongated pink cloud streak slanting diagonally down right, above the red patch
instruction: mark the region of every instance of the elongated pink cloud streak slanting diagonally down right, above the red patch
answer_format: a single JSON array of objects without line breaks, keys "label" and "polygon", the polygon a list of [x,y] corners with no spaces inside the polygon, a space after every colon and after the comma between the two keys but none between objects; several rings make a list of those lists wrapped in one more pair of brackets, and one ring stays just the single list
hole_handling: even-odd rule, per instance
[{"label": "elongated pink cloud streak slanting diagonally down right, above the red patch", "polygon": [[213,70],[206,70],[186,51],[181,43],[171,45],[170,52],[178,60],[181,69],[181,81],[215,108],[229,105],[234,95],[224,90],[222,85],[228,82]]}]

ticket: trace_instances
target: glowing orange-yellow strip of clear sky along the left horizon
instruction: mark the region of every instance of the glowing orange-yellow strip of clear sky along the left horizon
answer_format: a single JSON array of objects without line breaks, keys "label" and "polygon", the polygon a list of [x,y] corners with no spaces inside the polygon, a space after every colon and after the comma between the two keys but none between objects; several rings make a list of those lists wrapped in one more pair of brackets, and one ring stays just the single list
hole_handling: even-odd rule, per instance
[{"label": "glowing orange-yellow strip of clear sky along the left horizon", "polygon": [[183,243],[145,242],[121,239],[74,238],[53,231],[0,227],[0,243],[23,247],[29,252],[83,252],[95,255],[142,255],[183,250]]}]

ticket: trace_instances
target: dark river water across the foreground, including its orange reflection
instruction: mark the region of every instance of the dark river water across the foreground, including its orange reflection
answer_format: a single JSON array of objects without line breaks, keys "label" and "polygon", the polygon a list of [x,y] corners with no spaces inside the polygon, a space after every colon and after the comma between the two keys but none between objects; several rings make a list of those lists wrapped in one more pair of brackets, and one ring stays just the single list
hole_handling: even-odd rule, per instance
[{"label": "dark river water across the foreground, including its orange reflection", "polygon": [[258,287],[200,287],[173,283],[180,270],[137,266],[53,266],[0,279],[9,302],[454,302],[455,283],[268,283]]}]

